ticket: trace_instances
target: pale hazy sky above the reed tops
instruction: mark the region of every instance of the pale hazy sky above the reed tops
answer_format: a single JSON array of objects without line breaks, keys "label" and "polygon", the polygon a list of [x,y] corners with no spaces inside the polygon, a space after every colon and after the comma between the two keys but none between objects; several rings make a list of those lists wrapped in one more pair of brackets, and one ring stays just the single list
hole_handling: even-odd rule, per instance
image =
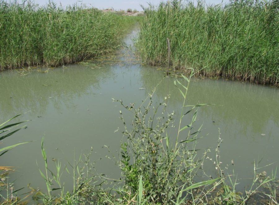
[{"label": "pale hazy sky above the reed tops", "polygon": [[[97,7],[99,9],[106,9],[109,7],[112,7],[115,10],[126,10],[128,8],[131,8],[132,10],[136,9],[138,11],[141,11],[140,4],[144,7],[148,7],[148,2],[151,2],[154,5],[158,5],[159,2],[162,0],[53,0],[57,5],[62,4],[62,6],[72,5],[73,3],[78,2],[79,4],[82,2],[83,4],[86,4],[88,6]],[[196,1],[196,0],[195,0]],[[219,4],[222,2],[222,0],[205,0],[206,4]],[[223,0],[224,3],[227,3],[229,0]],[[18,1],[20,2],[20,0]],[[43,6],[46,5],[48,0],[34,0],[35,3]]]}]

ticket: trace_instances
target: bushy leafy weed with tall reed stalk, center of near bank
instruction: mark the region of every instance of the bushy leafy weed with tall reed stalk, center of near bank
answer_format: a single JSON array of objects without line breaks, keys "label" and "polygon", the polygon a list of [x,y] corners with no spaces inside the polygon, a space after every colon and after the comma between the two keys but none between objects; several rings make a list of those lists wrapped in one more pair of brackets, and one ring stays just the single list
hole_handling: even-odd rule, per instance
[{"label": "bushy leafy weed with tall reed stalk, center of near bank", "polygon": [[[200,203],[205,200],[206,194],[224,180],[222,177],[208,178],[198,183],[194,180],[206,154],[197,158],[195,146],[201,127],[195,130],[193,125],[197,118],[197,108],[206,104],[193,105],[190,111],[184,113],[188,86],[193,76],[193,69],[191,70],[189,79],[183,76],[186,86],[178,79],[175,81],[184,97],[177,136],[167,134],[167,128],[173,127],[174,122],[174,113],[165,114],[166,100],[169,96],[153,106],[152,96],[155,88],[139,108],[134,108],[134,104],[125,106],[120,100],[121,105],[133,113],[134,121],[129,131],[120,111],[120,118],[125,127],[123,134],[127,141],[121,144],[121,170],[125,185],[118,191],[121,195],[119,203],[128,203],[137,194],[141,195],[145,203]],[[191,123],[183,126],[182,118],[188,116],[191,111],[194,112]],[[206,189],[209,185],[210,188]],[[142,193],[139,191],[141,189]]]}]

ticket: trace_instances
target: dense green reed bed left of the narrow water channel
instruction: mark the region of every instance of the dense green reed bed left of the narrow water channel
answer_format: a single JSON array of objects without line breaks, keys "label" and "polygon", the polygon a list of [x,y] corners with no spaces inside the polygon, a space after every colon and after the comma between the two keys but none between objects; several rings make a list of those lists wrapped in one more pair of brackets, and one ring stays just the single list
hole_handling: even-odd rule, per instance
[{"label": "dense green reed bed left of the narrow water channel", "polygon": [[0,1],[0,70],[58,66],[108,53],[138,18],[77,5]]}]

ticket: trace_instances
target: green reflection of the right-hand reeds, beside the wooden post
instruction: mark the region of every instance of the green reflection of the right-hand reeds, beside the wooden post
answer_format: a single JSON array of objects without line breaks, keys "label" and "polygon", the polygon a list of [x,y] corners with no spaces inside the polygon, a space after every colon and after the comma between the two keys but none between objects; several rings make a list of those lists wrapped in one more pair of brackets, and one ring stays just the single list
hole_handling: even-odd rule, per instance
[{"label": "green reflection of the right-hand reeds, beside the wooden post", "polygon": [[[154,69],[141,69],[141,74],[147,93],[163,77],[161,71],[157,72]],[[183,97],[174,86],[174,80],[171,77],[166,78],[158,87],[155,96],[158,100],[162,100],[166,94],[170,94],[171,98],[168,100],[168,105],[179,107]],[[184,82],[184,79],[180,78],[179,81]],[[216,124],[232,125],[237,123],[239,131],[250,137],[250,132],[253,134],[266,132],[271,121],[274,124],[273,126],[279,126],[278,102],[279,91],[276,88],[222,79],[201,80],[192,78],[186,104],[216,104],[200,109],[201,117],[207,118],[213,113],[212,121],[215,121]]]}]

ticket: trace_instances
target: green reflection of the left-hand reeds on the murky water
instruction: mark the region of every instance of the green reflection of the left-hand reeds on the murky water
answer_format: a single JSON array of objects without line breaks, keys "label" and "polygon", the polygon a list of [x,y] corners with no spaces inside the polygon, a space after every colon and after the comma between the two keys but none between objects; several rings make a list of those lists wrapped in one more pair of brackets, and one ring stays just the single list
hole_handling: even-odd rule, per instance
[{"label": "green reflection of the left-hand reeds on the murky water", "polygon": [[104,65],[94,70],[90,66],[68,65],[67,69],[48,73],[32,71],[26,76],[16,71],[3,72],[0,110],[5,112],[1,112],[1,118],[27,111],[46,114],[50,102],[61,112],[62,104],[73,107],[73,99],[84,94],[99,94],[96,90],[100,89],[100,83],[113,76],[112,68]]}]

